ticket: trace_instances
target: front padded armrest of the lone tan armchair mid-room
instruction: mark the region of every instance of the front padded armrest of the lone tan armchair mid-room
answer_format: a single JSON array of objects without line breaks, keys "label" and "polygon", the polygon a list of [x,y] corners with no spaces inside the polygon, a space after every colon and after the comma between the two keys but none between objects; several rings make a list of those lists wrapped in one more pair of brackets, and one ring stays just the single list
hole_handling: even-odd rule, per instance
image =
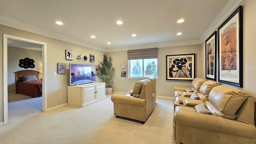
[{"label": "front padded armrest of the lone tan armchair mid-room", "polygon": [[136,98],[133,96],[113,94],[111,96],[111,101],[120,104],[130,104],[135,106],[145,106],[145,100],[143,98]]}]

